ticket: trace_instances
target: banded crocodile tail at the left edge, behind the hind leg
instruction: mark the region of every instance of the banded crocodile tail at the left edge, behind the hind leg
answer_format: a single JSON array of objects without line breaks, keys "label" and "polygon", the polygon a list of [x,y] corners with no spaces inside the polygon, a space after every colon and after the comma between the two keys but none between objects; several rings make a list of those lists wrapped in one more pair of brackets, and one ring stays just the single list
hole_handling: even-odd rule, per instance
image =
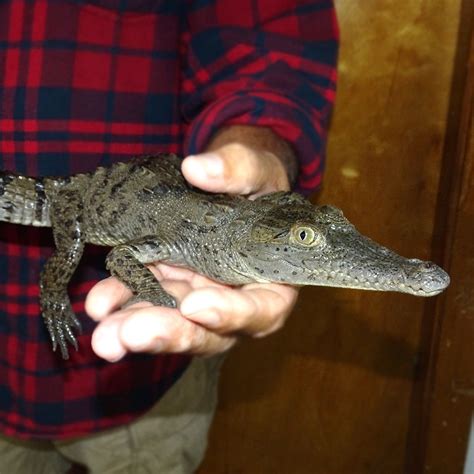
[{"label": "banded crocodile tail at the left edge, behind the hind leg", "polygon": [[0,171],[0,221],[50,227],[51,191],[67,178],[29,178]]}]

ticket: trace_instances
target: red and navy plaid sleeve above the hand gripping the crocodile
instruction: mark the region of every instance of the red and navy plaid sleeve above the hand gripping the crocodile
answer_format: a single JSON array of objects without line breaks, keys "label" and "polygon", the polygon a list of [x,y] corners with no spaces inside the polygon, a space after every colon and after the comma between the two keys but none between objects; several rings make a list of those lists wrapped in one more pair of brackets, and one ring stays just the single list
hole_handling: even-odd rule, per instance
[{"label": "red and navy plaid sleeve above the hand gripping the crocodile", "polygon": [[186,154],[222,126],[270,127],[299,159],[296,191],[320,184],[335,97],[332,0],[195,0],[183,34]]}]

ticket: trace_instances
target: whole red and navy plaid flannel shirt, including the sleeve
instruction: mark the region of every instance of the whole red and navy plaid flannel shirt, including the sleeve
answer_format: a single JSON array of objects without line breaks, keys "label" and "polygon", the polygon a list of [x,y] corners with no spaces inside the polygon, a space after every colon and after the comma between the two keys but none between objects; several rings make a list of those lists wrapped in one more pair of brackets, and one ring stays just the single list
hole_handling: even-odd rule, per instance
[{"label": "whole red and navy plaid flannel shirt, including the sleeve", "polygon": [[[300,158],[297,189],[321,180],[335,92],[330,0],[3,0],[0,166],[68,175],[156,152],[201,151],[223,125],[268,126]],[[50,350],[38,275],[49,229],[0,223],[0,429],[65,438],[126,423],[180,376],[188,357],[90,348],[83,301],[106,276],[89,247],[70,287],[84,334]]]}]

